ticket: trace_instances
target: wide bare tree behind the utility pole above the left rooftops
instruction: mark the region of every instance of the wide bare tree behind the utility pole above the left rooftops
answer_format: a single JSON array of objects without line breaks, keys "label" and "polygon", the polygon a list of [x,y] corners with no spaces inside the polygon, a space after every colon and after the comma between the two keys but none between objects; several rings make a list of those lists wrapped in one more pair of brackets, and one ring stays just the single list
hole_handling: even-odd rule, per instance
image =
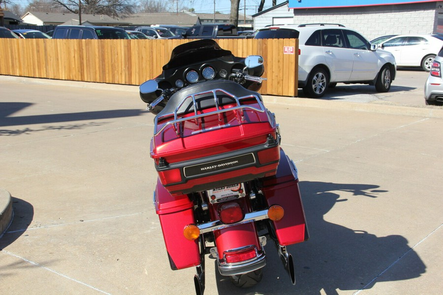
[{"label": "wide bare tree behind the utility pole above the left rooftops", "polygon": [[[58,7],[78,14],[79,0],[52,0]],[[120,17],[135,11],[134,0],[80,0],[81,11],[84,14],[105,14]]]}]

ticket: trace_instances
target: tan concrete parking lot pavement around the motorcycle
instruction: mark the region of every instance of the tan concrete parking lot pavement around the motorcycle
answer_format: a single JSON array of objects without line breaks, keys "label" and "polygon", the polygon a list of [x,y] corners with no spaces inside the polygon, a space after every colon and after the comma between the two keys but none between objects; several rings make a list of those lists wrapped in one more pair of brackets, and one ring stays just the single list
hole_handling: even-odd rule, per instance
[{"label": "tan concrete parking lot pavement around the motorcycle", "polygon": [[[440,294],[443,108],[427,73],[391,91],[338,84],[322,99],[264,97],[297,165],[310,239],[273,246],[263,280],[237,289],[206,259],[205,295]],[[154,116],[136,87],[0,76],[1,294],[194,294],[172,271],[152,205]]]}]

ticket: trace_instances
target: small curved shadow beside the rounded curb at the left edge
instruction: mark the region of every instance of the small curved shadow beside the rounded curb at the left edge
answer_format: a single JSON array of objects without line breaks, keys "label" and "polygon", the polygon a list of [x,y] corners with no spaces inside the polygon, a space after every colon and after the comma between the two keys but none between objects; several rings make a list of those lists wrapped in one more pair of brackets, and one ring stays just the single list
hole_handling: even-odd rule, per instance
[{"label": "small curved shadow beside the rounded curb at the left edge", "polygon": [[14,217],[11,225],[0,238],[0,251],[22,236],[34,217],[34,207],[30,203],[14,197],[11,197],[11,201]]}]

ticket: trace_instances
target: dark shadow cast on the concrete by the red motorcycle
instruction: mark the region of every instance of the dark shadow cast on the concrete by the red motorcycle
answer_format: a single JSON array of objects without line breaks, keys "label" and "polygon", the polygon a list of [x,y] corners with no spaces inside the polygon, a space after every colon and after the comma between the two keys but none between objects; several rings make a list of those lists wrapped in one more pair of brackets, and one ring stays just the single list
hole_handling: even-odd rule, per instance
[{"label": "dark shadow cast on the concrete by the red motorcycle", "polygon": [[[355,197],[377,198],[386,192],[379,186],[301,181],[300,190],[310,239],[288,247],[294,259],[296,285],[290,283],[272,241],[268,241],[262,281],[255,287],[239,289],[216,270],[220,295],[337,295],[340,290],[370,289],[376,282],[407,280],[426,271],[426,266],[411,250],[405,237],[379,237],[364,229],[350,229],[324,219],[334,205],[340,206],[341,202],[347,201],[338,200],[337,191],[352,192]],[[377,212],[362,208],[362,214],[372,214],[377,219]],[[389,279],[380,275],[406,255],[412,262],[408,267],[389,272]]]}]

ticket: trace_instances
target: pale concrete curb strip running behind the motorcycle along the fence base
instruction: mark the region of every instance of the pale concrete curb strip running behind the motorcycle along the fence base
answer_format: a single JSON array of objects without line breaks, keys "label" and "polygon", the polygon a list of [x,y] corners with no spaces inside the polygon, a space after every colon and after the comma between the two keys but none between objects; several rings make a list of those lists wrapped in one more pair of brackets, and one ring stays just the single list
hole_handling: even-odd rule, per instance
[{"label": "pale concrete curb strip running behind the motorcycle along the fence base", "polygon": [[[77,87],[84,89],[111,90],[111,91],[129,91],[135,92],[138,97],[138,86],[106,84],[95,82],[79,82],[67,80],[52,80],[41,78],[28,78],[18,76],[0,75],[0,81],[24,82],[33,84],[45,84],[55,86]],[[356,94],[355,96],[358,96]],[[325,100],[314,98],[262,95],[265,104],[277,104],[295,107],[322,108],[330,110],[349,110],[357,112],[372,112],[387,115],[415,116],[424,118],[443,118],[443,108],[435,106],[408,106],[389,102],[351,102],[343,100]],[[348,96],[352,97],[352,95]],[[376,96],[375,96],[376,97]]]}]

